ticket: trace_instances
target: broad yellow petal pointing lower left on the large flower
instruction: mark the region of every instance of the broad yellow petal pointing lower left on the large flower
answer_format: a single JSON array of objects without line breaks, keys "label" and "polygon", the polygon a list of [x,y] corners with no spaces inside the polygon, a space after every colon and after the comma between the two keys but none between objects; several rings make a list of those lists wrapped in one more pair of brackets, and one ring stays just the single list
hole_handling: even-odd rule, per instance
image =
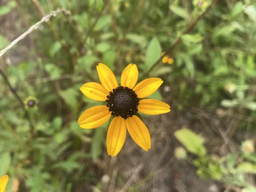
[{"label": "broad yellow petal pointing lower left on the large flower", "polygon": [[108,107],[99,105],[85,110],[78,119],[78,124],[83,129],[93,129],[106,123],[111,117]]}]

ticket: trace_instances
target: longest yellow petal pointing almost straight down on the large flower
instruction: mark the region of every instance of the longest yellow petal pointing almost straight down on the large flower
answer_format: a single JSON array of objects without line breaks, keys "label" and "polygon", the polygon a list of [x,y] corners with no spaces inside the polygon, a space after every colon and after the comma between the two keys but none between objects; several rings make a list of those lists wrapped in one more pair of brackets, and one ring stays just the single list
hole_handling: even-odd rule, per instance
[{"label": "longest yellow petal pointing almost straight down on the large flower", "polygon": [[116,156],[124,145],[126,137],[125,120],[121,117],[115,117],[108,128],[107,133],[107,151],[108,155]]}]

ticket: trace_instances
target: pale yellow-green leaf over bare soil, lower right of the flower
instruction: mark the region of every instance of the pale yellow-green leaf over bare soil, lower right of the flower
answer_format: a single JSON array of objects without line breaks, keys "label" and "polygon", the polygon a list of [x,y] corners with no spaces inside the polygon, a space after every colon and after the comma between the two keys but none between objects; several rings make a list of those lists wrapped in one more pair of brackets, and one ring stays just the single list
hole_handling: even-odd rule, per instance
[{"label": "pale yellow-green leaf over bare soil, lower right of the flower", "polygon": [[206,154],[206,148],[203,145],[203,138],[198,136],[192,130],[182,128],[175,131],[174,136],[186,147],[189,152],[199,156],[204,156]]}]

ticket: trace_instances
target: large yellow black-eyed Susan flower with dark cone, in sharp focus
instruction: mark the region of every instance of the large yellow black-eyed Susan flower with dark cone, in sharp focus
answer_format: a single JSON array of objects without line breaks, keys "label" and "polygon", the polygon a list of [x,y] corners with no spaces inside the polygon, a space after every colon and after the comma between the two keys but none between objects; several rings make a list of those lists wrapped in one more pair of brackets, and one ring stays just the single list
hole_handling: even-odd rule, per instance
[{"label": "large yellow black-eyed Susan flower with dark cone, in sharp focus", "polygon": [[105,101],[106,105],[87,109],[78,119],[78,124],[84,129],[93,129],[106,123],[113,115],[107,133],[108,155],[115,156],[124,145],[126,128],[132,139],[142,149],[148,151],[151,147],[150,134],[136,116],[137,112],[157,115],[170,111],[170,106],[155,99],[141,99],[153,94],[163,83],[160,78],[148,78],[136,86],[138,69],[135,64],[129,64],[121,75],[121,85],[118,86],[113,72],[104,64],[97,66],[101,84],[85,83],[80,87],[82,93],[97,101]]}]

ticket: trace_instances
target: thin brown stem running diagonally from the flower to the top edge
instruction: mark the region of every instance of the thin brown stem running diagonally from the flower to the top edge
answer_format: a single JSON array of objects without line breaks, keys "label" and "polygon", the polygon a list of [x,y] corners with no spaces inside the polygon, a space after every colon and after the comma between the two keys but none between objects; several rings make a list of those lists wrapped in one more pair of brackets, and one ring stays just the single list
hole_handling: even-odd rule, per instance
[{"label": "thin brown stem running diagonally from the flower to the top edge", "polygon": [[[213,0],[211,5],[209,5],[209,7],[207,7],[207,9],[197,17],[197,19],[191,24],[188,26],[188,28],[185,30],[185,32],[183,33],[184,34],[187,34],[188,32],[190,32],[195,26],[196,24],[198,23],[198,21],[200,21],[204,16],[205,14],[210,11],[210,9],[213,7],[213,5],[217,2],[218,0]],[[170,54],[172,52],[172,50],[174,49],[174,47],[176,45],[178,45],[180,42],[182,41],[181,37],[179,37],[178,39],[176,39],[176,41],[174,41],[172,43],[172,45],[169,47],[169,49],[165,52],[165,54],[160,57],[140,78],[139,78],[139,81],[141,81],[142,79],[144,79],[159,63],[160,61],[162,61],[163,57]]]}]

